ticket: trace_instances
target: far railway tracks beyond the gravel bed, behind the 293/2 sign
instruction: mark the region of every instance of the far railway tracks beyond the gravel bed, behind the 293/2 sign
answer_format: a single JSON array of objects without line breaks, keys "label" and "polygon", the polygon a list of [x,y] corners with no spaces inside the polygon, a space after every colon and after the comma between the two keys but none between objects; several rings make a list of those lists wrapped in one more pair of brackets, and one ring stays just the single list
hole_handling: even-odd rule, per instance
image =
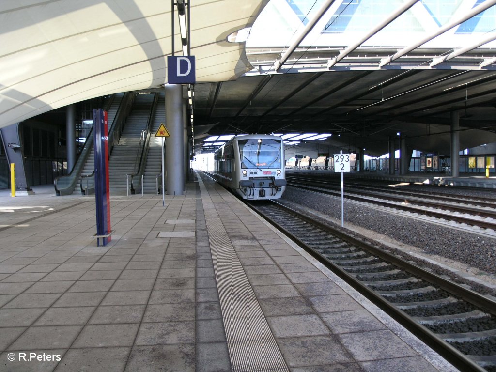
[{"label": "far railway tracks beyond the gravel bed, behind the 293/2 sign", "polygon": [[[340,189],[329,187],[314,179],[288,177],[288,186],[298,187],[312,192],[341,196]],[[375,206],[382,206],[393,211],[409,212],[414,217],[434,218],[436,222],[451,227],[473,229],[494,236],[496,232],[496,200],[475,200],[475,198],[458,198],[455,196],[429,195],[412,192],[371,191],[345,186],[345,198]],[[412,196],[415,195],[415,196]],[[432,200],[435,197],[437,200]]]}]

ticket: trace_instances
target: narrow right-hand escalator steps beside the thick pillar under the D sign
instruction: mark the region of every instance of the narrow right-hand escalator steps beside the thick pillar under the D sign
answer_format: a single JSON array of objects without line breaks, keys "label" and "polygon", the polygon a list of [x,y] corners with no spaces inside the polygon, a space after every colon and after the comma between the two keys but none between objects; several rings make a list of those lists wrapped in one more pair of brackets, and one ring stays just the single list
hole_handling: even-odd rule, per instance
[{"label": "narrow right-hand escalator steps beside the thick pillar under the D sign", "polygon": [[[150,137],[150,147],[146,158],[146,167],[143,175],[143,193],[155,194],[157,187],[157,175],[162,173],[162,137],[155,137],[155,133],[161,123],[165,123],[165,92],[160,93],[155,117],[153,118]],[[162,179],[159,177],[159,185]]]}]

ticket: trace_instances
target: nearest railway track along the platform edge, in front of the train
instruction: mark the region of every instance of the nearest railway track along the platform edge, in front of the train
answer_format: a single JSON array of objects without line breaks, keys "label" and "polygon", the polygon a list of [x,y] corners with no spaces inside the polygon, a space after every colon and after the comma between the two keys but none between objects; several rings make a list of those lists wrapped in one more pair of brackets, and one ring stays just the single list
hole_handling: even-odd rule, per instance
[{"label": "nearest railway track along the platform edge, in front of the train", "polygon": [[277,202],[270,223],[461,371],[496,372],[496,302]]}]

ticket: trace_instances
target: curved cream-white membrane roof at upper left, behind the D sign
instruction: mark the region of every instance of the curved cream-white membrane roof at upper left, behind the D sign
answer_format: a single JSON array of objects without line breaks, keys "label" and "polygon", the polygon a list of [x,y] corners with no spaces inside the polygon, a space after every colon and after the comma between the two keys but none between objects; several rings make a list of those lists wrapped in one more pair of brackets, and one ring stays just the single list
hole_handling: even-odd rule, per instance
[{"label": "curved cream-white membrane roof at upper left, behind the D sign", "polygon": [[[192,0],[197,82],[236,79],[251,67],[244,43],[268,0]],[[175,50],[181,52],[175,16]],[[166,82],[169,0],[0,1],[0,127],[106,94]]]}]

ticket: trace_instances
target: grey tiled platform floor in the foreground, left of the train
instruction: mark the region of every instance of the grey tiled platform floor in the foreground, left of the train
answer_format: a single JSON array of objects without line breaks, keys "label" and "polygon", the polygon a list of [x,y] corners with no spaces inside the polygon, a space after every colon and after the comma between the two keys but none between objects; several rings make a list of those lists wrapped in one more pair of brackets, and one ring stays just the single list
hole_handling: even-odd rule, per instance
[{"label": "grey tiled platform floor in the foreground, left of the train", "polygon": [[34,188],[0,192],[1,371],[456,371],[207,179],[111,196],[106,247]]}]

